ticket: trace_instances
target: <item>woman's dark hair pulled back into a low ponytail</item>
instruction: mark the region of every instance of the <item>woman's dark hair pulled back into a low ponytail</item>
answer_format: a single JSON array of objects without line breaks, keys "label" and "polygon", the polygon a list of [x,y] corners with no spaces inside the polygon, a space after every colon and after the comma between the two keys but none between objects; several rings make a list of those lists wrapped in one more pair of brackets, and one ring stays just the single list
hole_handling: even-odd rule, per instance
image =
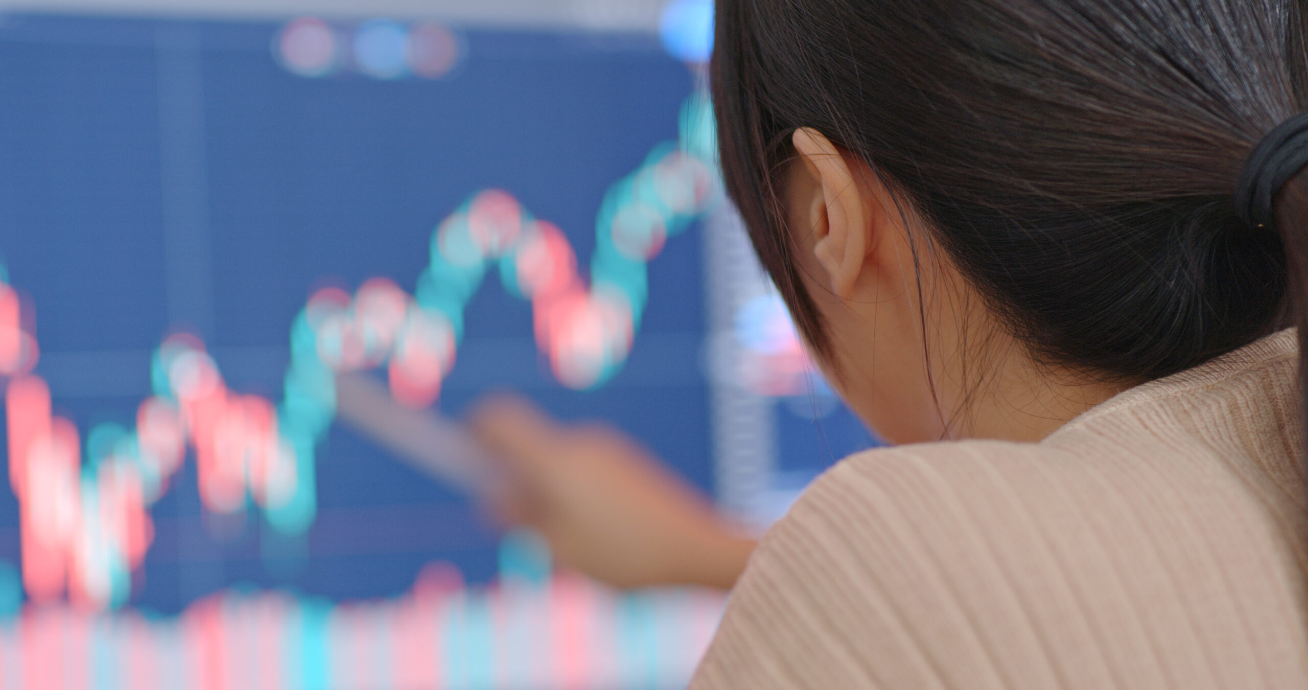
[{"label": "woman's dark hair pulled back into a low ponytail", "polygon": [[1308,175],[1279,196],[1283,238],[1233,200],[1250,151],[1308,111],[1300,0],[717,8],[727,191],[820,355],[782,204],[799,127],[863,158],[1041,361],[1146,381],[1308,317]]}]

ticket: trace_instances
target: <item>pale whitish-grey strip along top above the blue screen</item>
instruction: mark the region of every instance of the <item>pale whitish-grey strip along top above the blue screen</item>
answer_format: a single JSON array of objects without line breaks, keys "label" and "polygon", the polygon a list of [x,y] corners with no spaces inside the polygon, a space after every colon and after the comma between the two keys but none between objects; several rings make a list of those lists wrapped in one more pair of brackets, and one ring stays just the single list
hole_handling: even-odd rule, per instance
[{"label": "pale whitish-grey strip along top above the blue screen", "polygon": [[658,29],[664,0],[0,0],[0,12],[218,20],[390,17],[468,27],[641,31]]}]

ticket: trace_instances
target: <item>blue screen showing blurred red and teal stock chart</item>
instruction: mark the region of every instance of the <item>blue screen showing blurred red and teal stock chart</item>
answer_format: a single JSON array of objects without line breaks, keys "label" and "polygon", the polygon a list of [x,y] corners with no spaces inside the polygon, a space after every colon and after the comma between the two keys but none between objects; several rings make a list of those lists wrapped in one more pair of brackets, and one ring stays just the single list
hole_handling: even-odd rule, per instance
[{"label": "blue screen showing blurred red and teal stock chart", "polygon": [[874,444],[667,38],[4,16],[0,686],[684,685],[719,594],[555,572],[331,389],[519,391],[759,528]]}]

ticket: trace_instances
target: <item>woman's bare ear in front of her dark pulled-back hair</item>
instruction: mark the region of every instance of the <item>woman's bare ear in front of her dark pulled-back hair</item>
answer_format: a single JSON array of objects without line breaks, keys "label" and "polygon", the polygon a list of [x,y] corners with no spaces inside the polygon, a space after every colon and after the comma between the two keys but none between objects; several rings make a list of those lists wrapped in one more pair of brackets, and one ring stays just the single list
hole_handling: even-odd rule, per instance
[{"label": "woman's bare ear in front of her dark pulled-back hair", "polygon": [[821,132],[797,130],[795,152],[803,162],[804,206],[812,228],[814,257],[823,267],[831,291],[842,299],[854,296],[859,274],[872,246],[869,211],[848,161]]}]

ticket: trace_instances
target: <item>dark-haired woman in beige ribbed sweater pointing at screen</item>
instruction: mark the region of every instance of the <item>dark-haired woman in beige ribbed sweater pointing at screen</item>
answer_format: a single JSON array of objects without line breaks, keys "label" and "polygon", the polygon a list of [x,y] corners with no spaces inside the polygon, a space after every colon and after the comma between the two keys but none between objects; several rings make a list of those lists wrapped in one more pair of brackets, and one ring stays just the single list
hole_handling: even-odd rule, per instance
[{"label": "dark-haired woman in beige ribbed sweater pointing at screen", "polygon": [[1303,3],[717,12],[729,192],[899,445],[748,556],[612,432],[498,402],[514,517],[619,583],[748,558],[696,690],[1308,687]]}]

